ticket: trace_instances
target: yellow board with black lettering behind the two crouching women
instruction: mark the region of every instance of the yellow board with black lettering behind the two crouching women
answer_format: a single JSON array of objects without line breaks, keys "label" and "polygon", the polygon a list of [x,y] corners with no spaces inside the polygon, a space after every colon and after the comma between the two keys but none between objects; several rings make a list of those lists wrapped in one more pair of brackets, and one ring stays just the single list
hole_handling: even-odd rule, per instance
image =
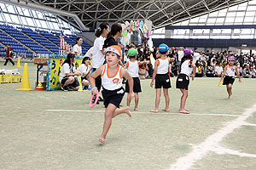
[{"label": "yellow board with black lettering behind the two crouching women", "polygon": [[[48,59],[48,77],[46,89],[49,91],[61,89],[59,78],[61,75],[61,66],[67,55],[50,55]],[[83,57],[77,56],[75,59],[76,70],[81,65]]]}]

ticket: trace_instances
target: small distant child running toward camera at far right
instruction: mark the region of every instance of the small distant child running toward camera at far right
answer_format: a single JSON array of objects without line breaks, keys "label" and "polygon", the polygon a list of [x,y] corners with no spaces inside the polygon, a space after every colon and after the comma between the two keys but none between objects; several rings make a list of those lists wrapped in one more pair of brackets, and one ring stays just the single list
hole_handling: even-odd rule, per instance
[{"label": "small distant child running toward camera at far right", "polygon": [[232,95],[232,85],[235,82],[235,72],[237,77],[239,78],[239,82],[241,82],[241,77],[239,75],[239,72],[237,71],[237,67],[235,65],[235,60],[236,58],[234,56],[230,56],[229,58],[229,64],[225,66],[224,68],[224,73],[222,74],[220,81],[223,81],[223,85],[226,85],[227,87],[227,92],[229,94],[229,99],[231,99]]}]

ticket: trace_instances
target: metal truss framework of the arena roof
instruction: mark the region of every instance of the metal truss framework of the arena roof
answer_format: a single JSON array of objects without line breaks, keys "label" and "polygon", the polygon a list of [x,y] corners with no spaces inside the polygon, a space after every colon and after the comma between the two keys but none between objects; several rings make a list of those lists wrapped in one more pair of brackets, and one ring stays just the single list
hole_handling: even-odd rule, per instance
[{"label": "metal truss framework of the arena roof", "polygon": [[[151,20],[153,29],[170,26],[250,0],[27,0],[77,14],[84,26],[96,22]],[[75,25],[72,18],[61,16]]]}]

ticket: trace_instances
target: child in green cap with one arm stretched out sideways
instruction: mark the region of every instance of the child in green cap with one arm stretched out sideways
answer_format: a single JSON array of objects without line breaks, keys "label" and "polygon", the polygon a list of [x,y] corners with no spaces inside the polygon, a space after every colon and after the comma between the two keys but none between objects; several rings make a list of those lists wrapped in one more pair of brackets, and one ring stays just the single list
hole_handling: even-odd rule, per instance
[{"label": "child in green cap with one arm stretched out sideways", "polygon": [[[135,106],[134,106],[134,111],[137,111],[137,105],[139,101],[138,93],[142,92],[141,89],[141,82],[139,79],[138,71],[139,71],[139,65],[144,64],[145,62],[148,63],[148,61],[137,61],[137,49],[136,48],[131,48],[128,51],[128,55],[130,57],[130,60],[126,62],[125,64],[125,69],[129,72],[133,79],[133,92],[135,96]],[[129,93],[129,84],[128,82],[125,83],[125,92]],[[131,103],[131,96],[127,95],[127,106],[130,106]]]}]

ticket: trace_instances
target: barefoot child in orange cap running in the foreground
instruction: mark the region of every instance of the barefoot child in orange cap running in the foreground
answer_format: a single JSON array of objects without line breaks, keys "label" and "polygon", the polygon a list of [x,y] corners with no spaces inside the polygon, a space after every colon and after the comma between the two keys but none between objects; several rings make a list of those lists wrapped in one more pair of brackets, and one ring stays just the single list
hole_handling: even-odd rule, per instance
[{"label": "barefoot child in orange cap running in the foreground", "polygon": [[127,106],[123,109],[119,109],[119,104],[121,103],[123,96],[125,94],[124,88],[122,88],[123,77],[129,82],[131,98],[134,96],[133,81],[128,73],[125,71],[118,62],[120,60],[121,48],[117,45],[110,46],[106,49],[106,62],[107,64],[102,65],[96,71],[90,75],[90,85],[92,93],[96,94],[98,92],[95,84],[96,77],[102,76],[102,96],[104,99],[104,105],[106,107],[105,111],[105,122],[103,125],[102,135],[99,139],[100,142],[105,143],[108,130],[111,126],[112,118],[118,116],[121,113],[126,113],[131,117],[130,108]]}]

